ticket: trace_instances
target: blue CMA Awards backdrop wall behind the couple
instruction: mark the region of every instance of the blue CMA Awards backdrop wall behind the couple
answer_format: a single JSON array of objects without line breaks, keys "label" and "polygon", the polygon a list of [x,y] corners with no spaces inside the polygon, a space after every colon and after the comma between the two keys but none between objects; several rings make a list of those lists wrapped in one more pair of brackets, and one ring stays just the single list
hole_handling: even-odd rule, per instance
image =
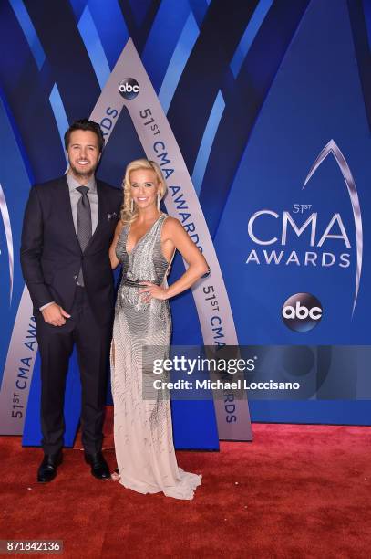
[{"label": "blue CMA Awards backdrop wall behind the couple", "polygon": [[[174,401],[177,448],[251,439],[250,416],[370,425],[370,0],[2,0],[0,44],[0,433],[39,444],[22,218],[86,116],[98,176],[119,187],[157,158],[167,211],[211,261],[171,301],[172,342],[249,346],[254,381],[303,387]],[[67,444],[78,401],[73,358]]]}]

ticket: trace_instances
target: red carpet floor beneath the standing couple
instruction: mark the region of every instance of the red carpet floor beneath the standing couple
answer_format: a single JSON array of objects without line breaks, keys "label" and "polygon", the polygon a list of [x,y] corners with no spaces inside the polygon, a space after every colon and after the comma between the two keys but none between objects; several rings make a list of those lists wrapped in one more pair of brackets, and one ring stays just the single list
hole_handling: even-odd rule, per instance
[{"label": "red carpet floor beneath the standing couple", "polygon": [[[253,430],[253,443],[178,453],[183,469],[203,474],[194,501],[94,480],[78,442],[65,451],[57,479],[38,485],[41,451],[4,437],[0,539],[63,540],[63,557],[73,558],[369,557],[371,429]],[[113,468],[113,450],[105,455]]]}]

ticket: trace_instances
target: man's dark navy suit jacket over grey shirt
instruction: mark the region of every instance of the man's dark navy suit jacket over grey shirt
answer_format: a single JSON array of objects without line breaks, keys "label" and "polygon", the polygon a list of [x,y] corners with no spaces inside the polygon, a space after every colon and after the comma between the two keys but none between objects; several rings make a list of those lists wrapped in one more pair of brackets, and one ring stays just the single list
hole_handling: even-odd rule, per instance
[{"label": "man's dark navy suit jacket over grey shirt", "polygon": [[22,231],[21,265],[34,311],[56,301],[70,311],[83,269],[99,323],[111,320],[114,289],[108,248],[119,220],[122,191],[97,180],[98,225],[84,253],[74,227],[66,176],[30,190]]}]

